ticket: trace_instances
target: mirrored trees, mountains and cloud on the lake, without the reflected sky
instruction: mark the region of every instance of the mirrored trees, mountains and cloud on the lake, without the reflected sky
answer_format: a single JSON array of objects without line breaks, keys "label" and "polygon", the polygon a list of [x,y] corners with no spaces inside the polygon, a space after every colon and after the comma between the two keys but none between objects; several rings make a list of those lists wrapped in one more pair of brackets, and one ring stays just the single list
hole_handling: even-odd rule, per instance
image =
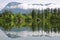
[{"label": "mirrored trees, mountains and cloud on the lake, without the reflected sky", "polygon": [[50,22],[23,22],[23,23],[0,23],[0,29],[10,38],[18,37],[53,37],[60,36],[60,23]]}]

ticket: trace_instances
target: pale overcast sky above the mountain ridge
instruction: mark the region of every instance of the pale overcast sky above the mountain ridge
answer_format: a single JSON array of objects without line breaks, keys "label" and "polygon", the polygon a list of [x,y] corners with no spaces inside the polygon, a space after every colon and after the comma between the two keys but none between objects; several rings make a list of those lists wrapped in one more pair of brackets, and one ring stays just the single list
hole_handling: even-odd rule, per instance
[{"label": "pale overcast sky above the mountain ridge", "polygon": [[20,3],[55,3],[60,6],[60,0],[0,0],[0,10],[4,8],[9,2],[20,2]]}]

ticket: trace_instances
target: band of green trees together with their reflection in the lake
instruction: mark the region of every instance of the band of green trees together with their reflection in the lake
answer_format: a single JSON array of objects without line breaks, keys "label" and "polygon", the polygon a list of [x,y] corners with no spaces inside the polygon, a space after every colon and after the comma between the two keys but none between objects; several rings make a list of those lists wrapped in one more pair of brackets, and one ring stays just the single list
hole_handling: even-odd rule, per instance
[{"label": "band of green trees together with their reflection in the lake", "polygon": [[5,10],[0,13],[0,26],[5,30],[10,30],[13,27],[21,28],[28,26],[33,31],[49,30],[60,31],[60,8],[58,9],[42,9],[32,10],[30,13],[13,13]]}]

